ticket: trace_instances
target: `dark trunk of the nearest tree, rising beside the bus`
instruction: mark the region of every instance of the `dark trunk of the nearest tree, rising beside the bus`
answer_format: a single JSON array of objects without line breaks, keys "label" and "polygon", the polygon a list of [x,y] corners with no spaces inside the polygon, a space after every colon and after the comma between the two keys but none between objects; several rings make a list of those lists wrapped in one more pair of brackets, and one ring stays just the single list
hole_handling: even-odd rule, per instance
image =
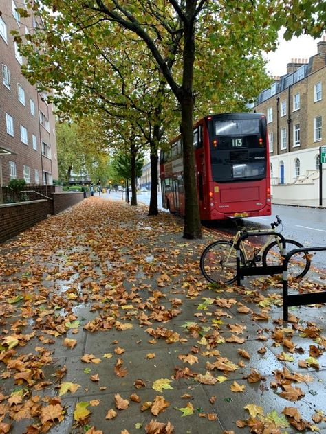
[{"label": "dark trunk of the nearest tree, rising beside the bus", "polygon": [[182,91],[179,99],[181,105],[181,135],[184,158],[184,238],[202,238],[199,217],[199,205],[195,178],[195,157],[193,152],[193,64],[195,62],[195,23],[193,21],[197,1],[186,2],[184,23],[184,67]]}]

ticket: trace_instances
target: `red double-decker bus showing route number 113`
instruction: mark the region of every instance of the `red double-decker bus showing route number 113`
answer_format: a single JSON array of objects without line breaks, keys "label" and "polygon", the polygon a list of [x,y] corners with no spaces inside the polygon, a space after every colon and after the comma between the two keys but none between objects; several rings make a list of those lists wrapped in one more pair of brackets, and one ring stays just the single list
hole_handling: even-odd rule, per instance
[{"label": "red double-decker bus showing route number 113", "polygon": [[[201,220],[271,214],[270,159],[265,115],[223,113],[193,128]],[[160,154],[163,207],[184,215],[182,139]]]}]

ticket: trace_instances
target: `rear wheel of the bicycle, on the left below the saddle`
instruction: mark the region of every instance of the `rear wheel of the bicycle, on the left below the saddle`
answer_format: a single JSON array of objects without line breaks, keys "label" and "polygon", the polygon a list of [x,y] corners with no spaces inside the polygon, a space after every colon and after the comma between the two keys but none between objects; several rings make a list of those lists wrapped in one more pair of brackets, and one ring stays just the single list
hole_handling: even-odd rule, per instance
[{"label": "rear wheel of the bicycle, on the left below the saddle", "polygon": [[[243,253],[240,251],[241,262]],[[237,279],[237,250],[230,241],[215,241],[204,249],[200,270],[208,282],[232,284]]]}]

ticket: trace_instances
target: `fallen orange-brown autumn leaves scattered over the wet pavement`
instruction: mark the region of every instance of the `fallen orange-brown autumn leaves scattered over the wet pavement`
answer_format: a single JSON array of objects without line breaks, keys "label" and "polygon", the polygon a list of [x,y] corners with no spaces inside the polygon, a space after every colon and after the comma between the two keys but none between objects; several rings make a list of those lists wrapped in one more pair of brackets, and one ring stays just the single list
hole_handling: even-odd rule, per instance
[{"label": "fallen orange-brown autumn leaves scattered over the wet pavement", "polygon": [[[138,209],[139,212],[140,210]],[[135,228],[137,228],[137,230],[133,229],[133,231],[129,231],[127,238],[122,236],[122,229],[118,229],[122,213],[124,213],[124,220],[129,221],[131,225],[134,224]],[[83,218],[80,218],[81,215]],[[104,237],[101,233],[104,230],[109,230],[107,228],[108,220],[110,221],[110,228],[115,230],[109,233],[104,243]],[[89,225],[87,230],[85,230],[86,222]],[[153,240],[153,243],[157,231],[180,230],[180,228],[175,227],[170,216],[157,218],[156,221],[151,221],[150,224],[152,225],[152,230],[147,233],[147,236]],[[170,299],[171,308],[167,308],[166,306],[163,308],[162,304],[160,304],[160,299],[165,299],[166,297],[165,288],[171,284],[171,275],[183,276],[178,284],[182,289],[181,292],[188,299],[198,299],[202,288],[206,289],[207,287],[199,275],[195,275],[198,268],[197,262],[193,264],[178,264],[176,266],[180,251],[182,249],[188,250],[188,244],[182,245],[182,242],[179,242],[177,247],[173,247],[171,250],[166,250],[162,246],[157,248],[155,255],[158,257],[161,255],[157,263],[164,262],[166,269],[170,272],[163,272],[160,265],[155,266],[154,264],[144,262],[142,269],[150,277],[156,276],[157,288],[151,288],[148,284],[137,282],[138,284],[133,286],[131,290],[125,290],[123,286],[126,277],[125,273],[129,273],[129,279],[136,282],[135,271],[137,271],[137,267],[133,263],[124,263],[125,273],[118,271],[115,277],[115,286],[103,282],[95,282],[94,261],[91,259],[89,253],[80,253],[78,251],[80,243],[84,247],[91,247],[91,253],[95,253],[98,258],[101,258],[102,262],[104,258],[109,258],[112,261],[115,260],[118,250],[125,247],[133,254],[134,262],[139,262],[143,253],[148,249],[146,245],[135,244],[135,239],[141,239],[144,235],[143,226],[137,222],[135,212],[122,207],[122,205],[116,205],[116,208],[114,208],[112,206],[108,207],[105,205],[105,201],[101,200],[85,201],[85,203],[75,207],[73,210],[41,223],[34,231],[25,233],[21,237],[21,240],[12,242],[12,247],[16,247],[17,251],[13,249],[12,252],[3,254],[0,262],[0,273],[6,278],[12,276],[12,280],[6,286],[6,289],[0,293],[0,325],[2,326],[0,363],[2,367],[6,367],[0,376],[3,380],[13,378],[17,388],[10,395],[6,395],[6,393],[1,393],[0,391],[0,433],[10,432],[11,424],[6,422],[5,418],[10,418],[17,422],[23,419],[34,418],[36,422],[28,426],[25,431],[27,434],[46,433],[54,424],[58,424],[65,419],[66,409],[61,403],[61,396],[68,392],[75,393],[80,385],[63,380],[67,374],[67,369],[64,366],[54,374],[58,396],[41,398],[38,395],[34,395],[32,391],[42,391],[52,385],[52,382],[45,379],[42,369],[43,366],[53,362],[52,352],[42,346],[36,346],[35,351],[37,355],[19,354],[19,347],[27,345],[33,339],[38,339],[41,344],[52,344],[56,343],[56,338],[63,337],[63,345],[67,348],[74,348],[77,345],[77,339],[64,337],[67,330],[72,330],[73,332],[76,330],[76,333],[78,332],[80,324],[72,313],[74,304],[91,301],[91,310],[100,310],[100,315],[84,325],[84,329],[89,332],[111,329],[123,332],[133,327],[133,324],[130,322],[126,323],[123,321],[134,320],[138,321],[138,324],[142,327],[146,326],[146,332],[150,338],[149,342],[153,343],[153,345],[155,345],[157,339],[164,339],[167,344],[185,343],[188,336],[197,339],[198,345],[193,345],[191,352],[180,354],[179,356],[180,361],[186,364],[186,367],[176,368],[171,378],[160,378],[153,382],[152,388],[160,393],[164,389],[173,389],[173,381],[180,380],[180,378],[191,378],[195,382],[204,385],[215,385],[224,382],[228,380],[230,372],[235,372],[239,367],[244,367],[246,361],[250,361],[250,354],[242,348],[239,348],[237,351],[240,357],[237,364],[221,356],[221,352],[217,349],[219,345],[223,345],[224,343],[241,345],[246,341],[241,336],[245,332],[246,327],[239,323],[227,324],[226,327],[231,336],[225,338],[223,332],[220,332],[221,325],[224,324],[222,319],[223,317],[232,318],[228,313],[228,309],[237,306],[238,314],[251,315],[252,321],[268,320],[270,307],[275,304],[278,306],[281,304],[281,296],[279,294],[264,297],[259,290],[246,291],[243,294],[243,300],[259,306],[261,309],[259,312],[253,312],[246,304],[242,304],[230,297],[232,291],[238,291],[237,288],[228,288],[226,291],[228,297],[221,297],[221,293],[225,293],[225,288],[223,288],[221,291],[217,291],[216,297],[200,299],[194,321],[184,324],[185,334],[179,334],[175,330],[170,330],[162,325],[153,325],[153,323],[168,323],[168,321],[177,317],[182,310],[182,300],[176,297]],[[94,230],[94,227],[96,230]],[[58,239],[59,235],[60,238]],[[65,245],[69,246],[67,251],[71,253],[69,253],[69,259],[63,261],[66,268],[62,268],[58,266],[58,263],[60,262],[60,255]],[[42,246],[41,250],[40,246]],[[6,249],[3,249],[3,252],[5,251]],[[38,258],[38,262],[33,262],[30,258]],[[77,261],[79,261],[78,265],[74,266]],[[169,263],[169,261],[171,262]],[[52,269],[51,267],[49,268],[51,262]],[[47,264],[46,266],[45,263]],[[85,271],[87,266],[89,267],[89,271]],[[46,279],[51,282],[55,282],[56,279],[61,281],[69,279],[75,273],[79,275],[79,283],[86,282],[91,277],[89,279],[90,282],[85,284],[88,291],[84,290],[80,293],[80,290],[72,285],[64,293],[58,295],[52,288],[45,288],[43,286],[44,273],[47,273],[48,277]],[[261,284],[258,286],[261,286]],[[162,290],[158,288],[162,288]],[[150,297],[143,300],[140,297],[140,289],[148,289],[151,294]],[[102,302],[103,299],[105,299],[106,303]],[[111,303],[109,308],[107,307],[107,301]],[[65,315],[56,315],[58,306],[65,311]],[[30,318],[33,318],[35,321],[34,330],[23,334],[24,328],[28,328],[28,319]],[[211,327],[207,327],[208,321]],[[309,347],[309,357],[299,361],[299,367],[319,369],[318,357],[323,355],[326,350],[325,336],[320,334],[321,331],[316,325],[307,323],[306,326],[303,326],[298,318],[293,315],[290,316],[290,324],[291,326],[284,326],[282,321],[276,320],[275,328],[270,330],[270,336],[274,339],[276,345],[284,349],[276,357],[281,361],[291,361],[291,354],[296,351],[296,345],[292,341],[292,336],[295,332],[298,332],[314,341],[314,345],[310,345]],[[8,330],[9,326],[10,330]],[[265,341],[267,337],[261,333],[259,339]],[[118,342],[116,343],[118,344]],[[116,347],[114,352],[120,356],[124,353],[124,349]],[[264,354],[264,352],[266,352],[266,347],[263,345],[259,349],[259,354]],[[206,362],[205,373],[195,372],[192,369],[193,365],[199,362],[199,356],[215,358],[213,362]],[[103,357],[111,358],[112,354],[104,354]],[[155,353],[147,354],[146,358],[155,358]],[[93,354],[85,354],[80,360],[85,364],[94,363],[96,365],[100,363],[100,359]],[[123,378],[127,375],[127,369],[122,358],[118,358],[113,369],[118,378]],[[216,371],[221,372],[221,375],[215,376],[213,372]],[[273,374],[274,380],[270,383],[270,387],[279,396],[290,402],[299,400],[304,396],[304,392],[297,385],[298,383],[308,383],[314,380],[309,374],[290,372],[285,367],[283,370],[277,369]],[[252,369],[252,372],[245,378],[248,383],[263,382],[265,380],[255,369]],[[92,375],[91,381],[98,382],[98,374]],[[115,408],[107,410],[106,419],[113,420],[116,418],[120,411],[125,411],[131,406],[131,402],[138,404],[142,412],[150,411],[154,418],[171,405],[171,402],[168,402],[162,395],[156,395],[151,402],[142,402],[137,391],[145,388],[146,382],[138,378],[133,385],[135,392],[129,398],[122,397],[119,393],[116,393],[114,398]],[[105,389],[105,387],[102,389]],[[237,381],[234,381],[230,389],[233,393],[245,393],[246,385],[240,385]],[[203,413],[193,407],[191,393],[185,393],[182,398],[186,404],[184,404],[184,407],[176,409],[180,411],[182,416],[197,414],[199,417],[207,418],[210,421],[217,420],[215,413]],[[214,404],[216,399],[216,396],[211,396],[210,403]],[[89,407],[96,407],[99,404],[99,400],[78,402],[76,404],[74,420],[76,426],[83,427],[83,432],[86,434],[103,434],[102,431],[96,429],[94,426],[89,426],[89,417],[91,415]],[[312,415],[312,420],[307,421],[303,419],[296,407],[284,407],[282,414],[272,411],[267,415],[265,415],[264,409],[257,404],[248,404],[244,408],[248,411],[249,417],[246,420],[237,420],[236,424],[239,428],[247,426],[252,433],[257,434],[281,433],[281,429],[286,429],[289,424],[298,429],[298,431],[305,429],[318,431],[316,424],[326,422],[325,413],[318,409]],[[144,426],[141,423],[136,423],[135,428],[144,428],[146,434],[175,433],[175,428],[171,422],[157,422],[155,419],[152,419]],[[230,433],[232,431],[226,432],[226,434]],[[129,433],[124,429],[121,431],[121,434]]]}]

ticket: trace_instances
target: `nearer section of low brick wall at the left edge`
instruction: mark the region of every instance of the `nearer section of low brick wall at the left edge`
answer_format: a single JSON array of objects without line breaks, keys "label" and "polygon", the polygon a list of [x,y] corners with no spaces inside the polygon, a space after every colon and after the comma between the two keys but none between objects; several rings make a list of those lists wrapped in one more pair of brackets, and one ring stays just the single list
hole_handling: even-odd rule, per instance
[{"label": "nearer section of low brick wall at the left edge", "polygon": [[47,201],[28,201],[0,205],[0,242],[9,240],[47,218]]}]

